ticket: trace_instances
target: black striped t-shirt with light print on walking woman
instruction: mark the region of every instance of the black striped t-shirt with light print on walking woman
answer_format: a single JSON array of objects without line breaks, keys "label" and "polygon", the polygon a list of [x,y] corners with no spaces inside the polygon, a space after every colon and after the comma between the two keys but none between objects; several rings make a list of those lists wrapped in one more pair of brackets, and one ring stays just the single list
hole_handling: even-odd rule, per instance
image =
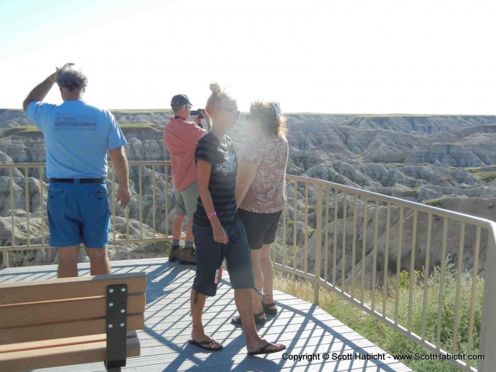
[{"label": "black striped t-shirt with light print on walking woman", "polygon": [[[230,225],[236,220],[236,174],[237,156],[230,137],[224,136],[219,141],[210,132],[201,137],[196,147],[196,162],[203,160],[208,162],[212,168],[208,191],[212,196],[213,208],[221,225]],[[198,225],[210,226],[201,197],[198,197],[196,212],[193,222]]]}]

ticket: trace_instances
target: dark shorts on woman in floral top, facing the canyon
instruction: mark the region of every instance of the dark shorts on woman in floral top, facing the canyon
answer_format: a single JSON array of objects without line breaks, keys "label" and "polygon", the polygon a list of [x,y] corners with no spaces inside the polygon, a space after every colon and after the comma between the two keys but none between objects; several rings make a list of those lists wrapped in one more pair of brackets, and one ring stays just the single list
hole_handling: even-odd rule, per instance
[{"label": "dark shorts on woman in floral top, facing the canyon", "polygon": [[274,243],[281,213],[282,210],[276,213],[255,213],[241,208],[237,210],[247,231],[250,249],[261,249],[263,244]]}]

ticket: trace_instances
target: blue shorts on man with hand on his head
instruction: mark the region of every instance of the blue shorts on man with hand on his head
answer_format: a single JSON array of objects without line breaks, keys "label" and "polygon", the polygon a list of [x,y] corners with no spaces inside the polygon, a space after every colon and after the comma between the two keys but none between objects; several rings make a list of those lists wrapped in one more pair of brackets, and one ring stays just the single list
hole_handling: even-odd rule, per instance
[{"label": "blue shorts on man with hand on his head", "polygon": [[82,242],[88,248],[103,248],[108,244],[111,213],[105,184],[52,183],[47,212],[52,247]]}]

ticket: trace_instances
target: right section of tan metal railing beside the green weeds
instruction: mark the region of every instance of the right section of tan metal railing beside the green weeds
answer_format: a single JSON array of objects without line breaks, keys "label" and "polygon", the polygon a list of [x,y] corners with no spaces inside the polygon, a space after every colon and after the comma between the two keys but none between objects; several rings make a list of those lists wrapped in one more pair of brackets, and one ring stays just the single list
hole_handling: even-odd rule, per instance
[{"label": "right section of tan metal railing beside the green weeds", "polygon": [[329,288],[462,371],[493,370],[495,222],[327,181],[286,179],[283,248],[272,252],[277,269],[313,281],[315,304],[321,286]]}]

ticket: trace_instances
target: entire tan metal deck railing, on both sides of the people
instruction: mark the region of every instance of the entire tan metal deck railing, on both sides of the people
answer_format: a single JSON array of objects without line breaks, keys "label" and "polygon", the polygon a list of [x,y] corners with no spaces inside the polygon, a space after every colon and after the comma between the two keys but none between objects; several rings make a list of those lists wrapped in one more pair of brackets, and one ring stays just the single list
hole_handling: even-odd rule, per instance
[{"label": "entire tan metal deck railing, on both sides of the people", "polygon": [[[133,201],[125,211],[112,203],[111,244],[171,239],[169,167],[130,162]],[[43,170],[44,164],[0,164],[0,191],[9,194],[11,210],[0,217],[12,226],[10,242],[0,237],[4,266],[9,252],[49,248]],[[492,371],[495,222],[302,176],[288,175],[287,186],[272,252],[276,269],[311,280],[315,304],[320,288],[329,288],[429,351],[458,356],[449,362],[461,370]]]}]

